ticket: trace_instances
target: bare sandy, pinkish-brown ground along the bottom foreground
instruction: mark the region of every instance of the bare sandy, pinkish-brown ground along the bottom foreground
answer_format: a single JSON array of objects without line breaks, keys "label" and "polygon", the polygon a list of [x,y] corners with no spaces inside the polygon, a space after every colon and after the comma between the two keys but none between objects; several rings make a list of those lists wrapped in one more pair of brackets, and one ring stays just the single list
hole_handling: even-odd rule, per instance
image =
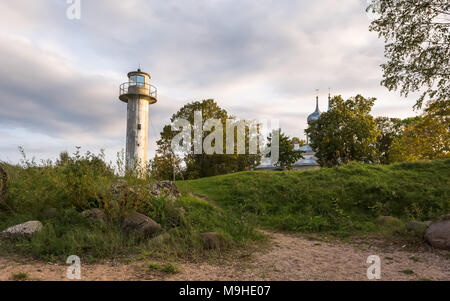
[{"label": "bare sandy, pinkish-brown ground along the bottom foreground", "polygon": [[[450,258],[446,252],[411,252],[373,241],[350,244],[292,234],[268,235],[268,249],[241,254],[232,261],[178,262],[174,264],[180,272],[174,275],[148,271],[146,261],[82,264],[82,280],[368,280],[366,271],[370,264],[366,260],[370,255],[381,259],[381,280],[450,280]],[[20,272],[27,273],[31,280],[67,280],[66,270],[65,265],[0,257],[2,281],[11,280]]]}]

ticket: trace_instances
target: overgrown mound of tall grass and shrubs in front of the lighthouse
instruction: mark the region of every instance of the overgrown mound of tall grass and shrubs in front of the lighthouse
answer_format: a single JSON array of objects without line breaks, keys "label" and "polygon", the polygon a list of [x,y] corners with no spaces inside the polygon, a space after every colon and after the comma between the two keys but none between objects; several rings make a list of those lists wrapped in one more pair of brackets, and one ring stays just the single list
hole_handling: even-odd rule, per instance
[{"label": "overgrown mound of tall grass and shrubs in front of the lighthouse", "polygon": [[[10,192],[5,201],[8,210],[0,209],[0,230],[30,220],[41,221],[44,229],[31,239],[2,241],[3,252],[52,261],[64,261],[73,254],[90,261],[140,252],[197,258],[211,256],[202,244],[202,232],[221,233],[233,247],[262,238],[245,221],[203,201],[188,196],[176,201],[153,197],[151,179],[114,175],[102,155],[81,155],[78,150],[72,156],[63,153],[56,162],[40,164],[24,157],[21,165],[5,164],[5,170]],[[104,209],[107,222],[80,214],[90,208]],[[168,239],[142,241],[125,235],[121,218],[132,209],[161,224]]]}]

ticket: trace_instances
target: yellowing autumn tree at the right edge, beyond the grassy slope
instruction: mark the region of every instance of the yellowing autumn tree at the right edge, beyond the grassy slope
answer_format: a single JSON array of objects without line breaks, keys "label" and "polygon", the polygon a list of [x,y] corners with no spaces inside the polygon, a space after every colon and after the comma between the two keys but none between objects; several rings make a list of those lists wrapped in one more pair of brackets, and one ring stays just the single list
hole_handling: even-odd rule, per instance
[{"label": "yellowing autumn tree at the right edge, beyond the grassy slope", "polygon": [[[431,102],[416,122],[409,123],[393,143],[389,156],[393,162],[450,157],[450,119],[448,108],[442,114],[439,102]],[[445,113],[445,112],[444,112]]]}]

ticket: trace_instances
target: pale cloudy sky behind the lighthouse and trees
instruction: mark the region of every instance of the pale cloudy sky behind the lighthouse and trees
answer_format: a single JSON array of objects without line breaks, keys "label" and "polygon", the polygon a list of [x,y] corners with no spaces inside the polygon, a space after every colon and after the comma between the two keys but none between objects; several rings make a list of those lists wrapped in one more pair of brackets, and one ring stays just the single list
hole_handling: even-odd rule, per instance
[{"label": "pale cloudy sky behind the lighthouse and trees", "polygon": [[407,117],[414,98],[380,86],[383,41],[366,0],[66,0],[0,2],[0,160],[57,157],[75,146],[108,159],[125,147],[129,71],[152,75],[149,155],[170,116],[214,98],[239,118],[279,119],[304,138],[333,95],[376,97],[375,116]]}]

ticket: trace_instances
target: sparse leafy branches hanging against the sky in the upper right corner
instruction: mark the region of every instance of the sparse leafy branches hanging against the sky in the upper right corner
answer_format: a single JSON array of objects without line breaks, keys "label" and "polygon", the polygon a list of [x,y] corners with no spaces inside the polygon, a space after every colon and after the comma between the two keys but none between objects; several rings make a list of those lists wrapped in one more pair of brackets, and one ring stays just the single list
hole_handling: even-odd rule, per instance
[{"label": "sparse leafy branches hanging against the sky in the upper right corner", "polygon": [[370,30],[386,43],[382,85],[404,96],[420,92],[416,108],[428,100],[449,107],[450,2],[371,0],[367,11],[378,16]]}]

